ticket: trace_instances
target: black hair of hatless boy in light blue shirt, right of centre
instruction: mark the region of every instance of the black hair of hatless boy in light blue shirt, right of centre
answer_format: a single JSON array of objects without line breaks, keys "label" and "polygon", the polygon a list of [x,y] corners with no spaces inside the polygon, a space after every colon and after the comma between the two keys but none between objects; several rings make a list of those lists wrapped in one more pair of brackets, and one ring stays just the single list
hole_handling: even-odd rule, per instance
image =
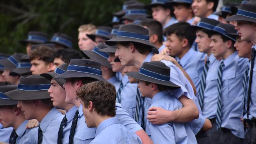
[{"label": "black hair of hatless boy in light blue shirt, right of centre", "polygon": [[193,31],[188,29],[188,26],[190,26],[190,24],[187,22],[178,22],[176,24],[172,24],[165,29],[165,35],[169,36],[174,33],[178,36],[180,41],[182,41],[182,39],[187,39],[188,45],[192,46],[196,35]]}]

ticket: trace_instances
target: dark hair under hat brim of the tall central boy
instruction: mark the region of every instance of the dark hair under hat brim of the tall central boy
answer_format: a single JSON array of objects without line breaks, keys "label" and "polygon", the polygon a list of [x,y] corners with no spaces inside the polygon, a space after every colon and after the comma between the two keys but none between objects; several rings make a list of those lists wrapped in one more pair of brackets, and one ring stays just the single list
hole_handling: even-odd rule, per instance
[{"label": "dark hair under hat brim of the tall central boy", "polygon": [[[130,46],[130,42],[117,42],[118,44],[120,44],[121,46],[124,46],[124,47],[128,47]],[[138,50],[138,52],[140,54],[147,54],[149,52],[152,51],[152,46],[148,46],[146,44],[142,44],[142,43],[139,43],[139,42],[132,42],[134,44],[134,47],[136,48],[136,50]]]}]

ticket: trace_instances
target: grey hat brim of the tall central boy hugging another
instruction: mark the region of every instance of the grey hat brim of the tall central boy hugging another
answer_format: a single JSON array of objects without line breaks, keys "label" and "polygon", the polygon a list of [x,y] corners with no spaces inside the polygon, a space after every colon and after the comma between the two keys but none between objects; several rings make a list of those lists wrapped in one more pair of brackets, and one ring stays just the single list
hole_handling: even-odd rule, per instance
[{"label": "grey hat brim of the tall central boy hugging another", "polygon": [[150,43],[149,41],[144,41],[144,40],[140,40],[140,39],[134,39],[134,38],[130,38],[130,37],[115,37],[113,39],[110,39],[108,41],[105,41],[105,43],[109,46],[114,46],[117,44],[117,42],[139,42],[141,44],[146,44],[148,46],[151,46],[152,47],[152,51],[155,53],[155,54],[159,54],[159,51],[158,51],[158,48]]}]

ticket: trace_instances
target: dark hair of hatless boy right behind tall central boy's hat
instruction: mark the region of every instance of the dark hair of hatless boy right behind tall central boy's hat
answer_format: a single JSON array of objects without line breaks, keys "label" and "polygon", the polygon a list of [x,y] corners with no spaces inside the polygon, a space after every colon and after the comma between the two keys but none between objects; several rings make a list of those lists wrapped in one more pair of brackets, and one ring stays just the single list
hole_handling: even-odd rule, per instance
[{"label": "dark hair of hatless boy right behind tall central boy's hat", "polygon": [[144,20],[141,21],[142,26],[146,26],[149,30],[149,35],[156,34],[158,36],[158,42],[163,42],[163,26],[157,20]]}]

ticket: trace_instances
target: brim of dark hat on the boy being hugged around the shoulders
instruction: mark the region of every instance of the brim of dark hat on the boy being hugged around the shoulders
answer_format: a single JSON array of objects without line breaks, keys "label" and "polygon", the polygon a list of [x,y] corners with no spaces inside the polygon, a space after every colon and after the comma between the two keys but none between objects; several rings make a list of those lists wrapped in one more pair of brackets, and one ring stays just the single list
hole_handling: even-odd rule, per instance
[{"label": "brim of dark hat on the boy being hugged around the shoulders", "polygon": [[161,80],[158,80],[158,79],[150,78],[148,76],[144,76],[143,74],[140,74],[139,72],[128,72],[128,73],[126,73],[126,75],[128,77],[131,77],[131,78],[134,78],[134,79],[139,79],[139,80],[142,80],[142,81],[148,81],[148,82],[151,82],[151,83],[157,83],[157,84],[160,84],[160,85],[165,85],[165,86],[170,87],[170,89],[180,88],[180,86],[172,83],[171,81],[161,81]]}]

